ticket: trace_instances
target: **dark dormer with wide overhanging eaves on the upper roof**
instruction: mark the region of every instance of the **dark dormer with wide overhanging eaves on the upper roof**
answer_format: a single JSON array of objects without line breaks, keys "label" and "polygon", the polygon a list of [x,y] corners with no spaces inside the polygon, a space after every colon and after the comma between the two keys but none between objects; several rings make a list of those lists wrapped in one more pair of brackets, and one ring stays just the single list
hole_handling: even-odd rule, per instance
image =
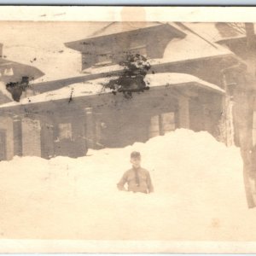
[{"label": "dark dormer with wide overhanging eaves on the upper roof", "polygon": [[[146,55],[149,59],[161,58],[166,45],[173,38],[185,37],[185,33],[169,24],[140,22],[140,26],[137,23],[136,26],[129,22],[128,26],[124,23],[114,24],[119,26],[118,32],[110,30],[113,33],[109,34],[107,27],[105,30],[108,29],[108,33],[103,29],[103,32],[96,34],[94,38],[85,38],[65,45],[82,53],[82,69],[85,69],[99,62],[119,63],[126,52]],[[131,26],[131,23],[134,26]]]}]

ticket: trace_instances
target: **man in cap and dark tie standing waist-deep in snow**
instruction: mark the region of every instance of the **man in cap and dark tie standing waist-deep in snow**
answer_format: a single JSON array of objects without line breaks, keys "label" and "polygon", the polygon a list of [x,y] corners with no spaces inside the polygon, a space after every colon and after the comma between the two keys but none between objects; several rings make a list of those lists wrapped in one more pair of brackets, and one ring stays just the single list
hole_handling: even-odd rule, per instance
[{"label": "man in cap and dark tie standing waist-deep in snow", "polygon": [[[141,167],[141,154],[139,152],[131,153],[131,165],[132,168],[125,172],[117,184],[118,189],[145,194],[154,192],[149,172]],[[125,189],[125,183],[128,184],[128,189]]]}]

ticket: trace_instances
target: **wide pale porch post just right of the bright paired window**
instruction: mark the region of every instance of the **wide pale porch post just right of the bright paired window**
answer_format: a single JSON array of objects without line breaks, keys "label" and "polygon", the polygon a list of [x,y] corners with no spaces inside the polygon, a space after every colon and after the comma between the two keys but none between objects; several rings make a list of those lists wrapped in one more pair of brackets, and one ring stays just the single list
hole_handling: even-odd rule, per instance
[{"label": "wide pale porch post just right of the bright paired window", "polygon": [[189,97],[178,96],[179,128],[189,129]]}]

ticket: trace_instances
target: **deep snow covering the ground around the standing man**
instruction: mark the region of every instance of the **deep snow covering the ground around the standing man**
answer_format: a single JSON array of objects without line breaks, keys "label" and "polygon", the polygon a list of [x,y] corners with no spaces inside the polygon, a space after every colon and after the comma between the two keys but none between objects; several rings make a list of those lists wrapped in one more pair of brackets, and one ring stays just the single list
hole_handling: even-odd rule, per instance
[{"label": "deep snow covering the ground around the standing man", "polygon": [[[154,194],[118,191],[132,150]],[[0,236],[41,239],[254,241],[239,148],[207,132],[177,130],[79,159],[0,163]]]}]

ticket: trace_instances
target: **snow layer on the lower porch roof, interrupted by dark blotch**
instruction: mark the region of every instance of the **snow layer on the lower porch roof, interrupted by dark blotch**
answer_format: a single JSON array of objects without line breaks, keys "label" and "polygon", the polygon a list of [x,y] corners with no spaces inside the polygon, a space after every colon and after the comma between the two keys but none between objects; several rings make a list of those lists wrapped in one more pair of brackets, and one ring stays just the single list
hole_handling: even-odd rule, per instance
[{"label": "snow layer on the lower porch roof, interrupted by dark blotch", "polygon": [[[111,79],[117,79],[117,77],[112,77]],[[30,96],[20,100],[20,102],[9,102],[0,106],[0,108],[9,108],[19,105],[26,105],[38,102],[50,102],[61,99],[69,99],[80,97],[80,96],[93,96],[99,94],[110,93],[111,90],[103,88],[103,84],[108,84],[110,78],[103,79],[93,79],[86,81],[84,83],[70,84],[58,90],[51,90],[44,92],[37,96]],[[155,73],[148,74],[145,77],[145,82],[150,85],[150,87],[165,86],[165,85],[178,85],[184,86],[190,83],[194,83],[196,86],[201,87],[206,90],[213,90],[218,93],[224,93],[224,90],[219,88],[215,84],[210,84],[204,80],[201,80],[195,76],[186,73]]]}]

